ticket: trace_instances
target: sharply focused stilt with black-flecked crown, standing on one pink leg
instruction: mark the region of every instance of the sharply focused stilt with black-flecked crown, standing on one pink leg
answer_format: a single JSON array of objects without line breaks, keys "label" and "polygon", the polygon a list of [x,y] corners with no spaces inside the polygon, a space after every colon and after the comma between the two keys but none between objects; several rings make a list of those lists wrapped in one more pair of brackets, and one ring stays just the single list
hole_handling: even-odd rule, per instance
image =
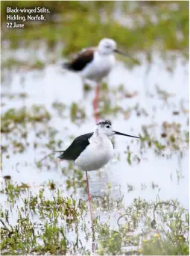
[{"label": "sharply focused stilt with black-flecked crown, standing on one pink leg", "polygon": [[94,252],[95,239],[87,172],[100,169],[113,158],[113,143],[110,140],[110,137],[113,135],[122,135],[139,139],[139,137],[136,136],[114,131],[110,120],[105,120],[104,122],[98,122],[98,124],[95,125],[94,132],[83,134],[75,138],[69,148],[65,151],[56,151],[63,153],[58,158],[61,160],[73,160],[80,169],[86,171],[89,210],[92,221],[92,252]]}]

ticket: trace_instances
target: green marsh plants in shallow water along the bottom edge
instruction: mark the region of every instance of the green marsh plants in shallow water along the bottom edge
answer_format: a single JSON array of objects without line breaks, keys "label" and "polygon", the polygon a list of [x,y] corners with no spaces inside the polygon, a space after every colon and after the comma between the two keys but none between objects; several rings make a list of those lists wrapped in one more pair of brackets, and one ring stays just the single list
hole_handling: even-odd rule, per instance
[{"label": "green marsh plants in shallow water along the bottom edge", "polygon": [[[88,213],[86,201],[80,199],[76,202],[73,197],[63,197],[62,192],[55,188],[51,199],[46,199],[46,190],[48,187],[34,194],[25,184],[17,186],[6,181],[1,194],[7,194],[12,209],[17,205],[13,198],[22,198],[22,204],[17,205],[13,225],[11,211],[1,209],[2,255],[89,255],[89,249],[84,246],[90,243],[90,231],[85,221]],[[101,210],[116,207],[118,212],[116,229],[111,227],[109,219],[102,223],[95,218],[98,242],[95,251],[98,255],[123,254],[125,246],[133,247],[128,251],[130,255],[189,255],[189,213],[177,201],[146,202],[138,198],[127,208],[122,206],[122,199],[116,205],[105,205],[109,201],[112,201],[110,196],[104,197],[103,201],[92,199],[93,205],[98,203]],[[36,217],[38,221],[35,221]],[[142,226],[144,228],[140,231]],[[85,238],[80,237],[79,227]],[[137,230],[139,234],[136,234]],[[72,234],[72,242],[68,240],[68,234]]]}]

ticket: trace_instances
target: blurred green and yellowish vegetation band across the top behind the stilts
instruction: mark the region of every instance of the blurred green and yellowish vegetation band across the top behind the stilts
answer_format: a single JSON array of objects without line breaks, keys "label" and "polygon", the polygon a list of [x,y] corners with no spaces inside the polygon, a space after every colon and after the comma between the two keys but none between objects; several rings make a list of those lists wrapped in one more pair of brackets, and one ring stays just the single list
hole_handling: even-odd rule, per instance
[{"label": "blurred green and yellowish vegetation band across the top behind the stilts", "polygon": [[[45,7],[50,13],[41,24],[8,29],[6,7]],[[1,29],[1,43],[8,40],[13,49],[39,47],[43,40],[51,51],[63,43],[64,55],[111,37],[133,56],[145,51],[149,61],[153,50],[165,58],[168,50],[189,57],[189,1],[1,1]]]}]

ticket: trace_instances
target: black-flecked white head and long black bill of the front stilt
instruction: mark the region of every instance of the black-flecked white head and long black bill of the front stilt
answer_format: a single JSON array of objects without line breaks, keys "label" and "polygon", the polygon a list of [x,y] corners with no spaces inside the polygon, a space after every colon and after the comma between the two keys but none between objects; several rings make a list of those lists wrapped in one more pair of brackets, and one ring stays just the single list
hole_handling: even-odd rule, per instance
[{"label": "black-flecked white head and long black bill of the front stilt", "polygon": [[98,122],[98,124],[95,125],[95,134],[97,136],[107,135],[107,137],[111,137],[115,134],[118,134],[118,135],[123,135],[127,137],[139,138],[139,137],[128,135],[128,134],[121,134],[121,132],[118,132],[118,131],[113,131],[113,125],[110,120]]}]

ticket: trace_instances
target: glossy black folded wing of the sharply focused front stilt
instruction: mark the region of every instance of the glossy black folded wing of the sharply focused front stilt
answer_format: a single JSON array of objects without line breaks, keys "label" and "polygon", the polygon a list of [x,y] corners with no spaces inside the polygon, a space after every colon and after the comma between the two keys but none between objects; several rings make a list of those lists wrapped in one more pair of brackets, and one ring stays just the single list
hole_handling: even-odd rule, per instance
[{"label": "glossy black folded wing of the sharply focused front stilt", "polygon": [[58,158],[65,160],[76,160],[80,153],[86,149],[86,146],[89,145],[89,138],[92,137],[92,134],[93,133],[90,132],[89,134],[83,134],[77,137],[69,148],[66,149],[66,151],[64,151],[63,154],[61,154]]}]

